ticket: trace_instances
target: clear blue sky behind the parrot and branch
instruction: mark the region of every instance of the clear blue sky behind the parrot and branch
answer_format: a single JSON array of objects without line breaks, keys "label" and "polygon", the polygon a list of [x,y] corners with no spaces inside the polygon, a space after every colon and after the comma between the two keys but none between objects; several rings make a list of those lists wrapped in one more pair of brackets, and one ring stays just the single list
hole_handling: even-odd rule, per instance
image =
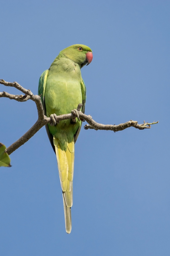
[{"label": "clear blue sky behind the parrot and branch", "polygon": [[[0,169],[1,256],[170,255],[170,2],[1,1],[0,78],[37,94],[58,53],[86,44],[85,113],[150,130],[85,131],[76,143],[72,231],[43,127]],[[0,91],[18,94],[0,85]],[[0,142],[36,121],[34,102],[0,99]]]}]

